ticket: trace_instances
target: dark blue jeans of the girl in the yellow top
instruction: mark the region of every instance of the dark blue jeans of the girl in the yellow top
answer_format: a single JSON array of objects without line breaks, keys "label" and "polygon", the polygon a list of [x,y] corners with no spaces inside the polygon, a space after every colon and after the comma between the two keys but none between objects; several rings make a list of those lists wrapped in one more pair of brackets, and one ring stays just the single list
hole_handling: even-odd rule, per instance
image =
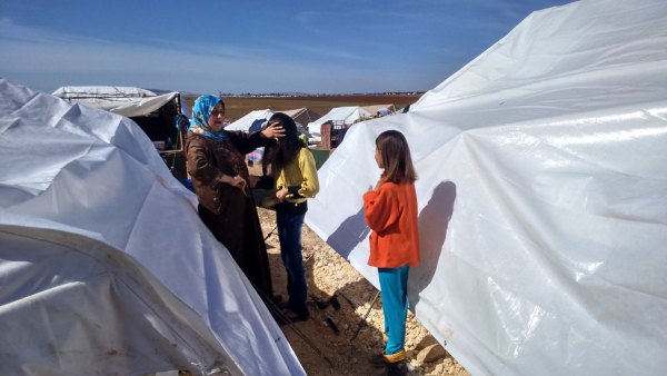
[{"label": "dark blue jeans of the girl in the yellow top", "polygon": [[295,216],[289,212],[276,211],[278,238],[280,239],[280,258],[287,269],[287,294],[289,294],[290,309],[301,315],[308,310],[306,298],[306,273],[303,271],[303,257],[301,256],[301,227],[305,215]]}]

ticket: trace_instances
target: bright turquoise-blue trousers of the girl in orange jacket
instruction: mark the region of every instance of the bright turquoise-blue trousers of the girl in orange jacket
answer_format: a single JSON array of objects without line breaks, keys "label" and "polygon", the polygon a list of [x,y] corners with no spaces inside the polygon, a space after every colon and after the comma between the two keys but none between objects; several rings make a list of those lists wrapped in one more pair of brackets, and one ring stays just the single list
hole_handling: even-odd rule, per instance
[{"label": "bright turquoise-blue trousers of the girl in orange jacket", "polygon": [[406,319],[408,317],[408,273],[410,267],[378,268],[385,334],[389,337],[385,354],[394,355],[406,347]]}]

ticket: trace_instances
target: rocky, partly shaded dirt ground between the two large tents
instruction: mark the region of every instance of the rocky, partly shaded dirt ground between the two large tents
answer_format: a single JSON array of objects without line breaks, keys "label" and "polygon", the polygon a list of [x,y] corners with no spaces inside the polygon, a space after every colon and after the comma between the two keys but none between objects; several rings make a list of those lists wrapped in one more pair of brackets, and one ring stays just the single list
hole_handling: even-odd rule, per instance
[{"label": "rocky, partly shaded dirt ground between the two large tents", "polygon": [[[251,174],[257,175],[257,166],[251,168]],[[271,210],[260,208],[258,211],[265,236],[270,234],[267,239],[267,248],[273,289],[276,294],[287,298],[287,277],[280,260],[278,234],[277,230],[273,230],[276,215]],[[375,304],[361,332],[350,344],[350,339],[362,323],[364,315],[376,296],[377,289],[306,225],[301,234],[301,243],[308,283],[310,319],[295,325],[318,347],[323,356],[312,349],[289,326],[282,326],[282,332],[306,373],[308,375],[380,374],[382,369],[371,366],[366,358],[379,354],[384,349],[381,298]],[[335,295],[340,304],[339,310],[336,310],[331,304],[319,309],[312,301],[316,299],[326,303]],[[327,318],[339,329],[339,334],[336,334],[327,324]],[[438,360],[420,364],[417,359],[419,350],[432,344],[436,344],[434,337],[411,313],[408,313],[406,350],[410,365],[414,367],[412,374],[469,375],[449,353],[445,353],[445,356]],[[325,356],[331,360],[334,366],[325,359]]]}]

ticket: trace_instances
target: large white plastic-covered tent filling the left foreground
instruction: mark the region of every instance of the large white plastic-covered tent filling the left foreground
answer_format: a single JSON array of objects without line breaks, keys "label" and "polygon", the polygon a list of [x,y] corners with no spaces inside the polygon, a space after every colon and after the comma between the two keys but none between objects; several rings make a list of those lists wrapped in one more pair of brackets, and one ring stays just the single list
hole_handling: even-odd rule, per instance
[{"label": "large white plastic-covered tent filling the left foreground", "polygon": [[135,122],[0,98],[0,374],[305,375]]}]

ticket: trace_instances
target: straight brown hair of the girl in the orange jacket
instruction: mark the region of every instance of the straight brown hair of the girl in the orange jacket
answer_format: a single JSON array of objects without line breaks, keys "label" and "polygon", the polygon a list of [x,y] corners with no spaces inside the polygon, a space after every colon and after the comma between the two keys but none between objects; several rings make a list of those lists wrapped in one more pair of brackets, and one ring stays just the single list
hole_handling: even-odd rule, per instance
[{"label": "straight brown hair of the girl in the orange jacket", "polygon": [[385,181],[399,184],[405,177],[408,184],[417,180],[417,172],[412,167],[410,147],[405,136],[398,130],[387,130],[376,139],[376,147],[380,150],[382,165],[385,165]]}]

